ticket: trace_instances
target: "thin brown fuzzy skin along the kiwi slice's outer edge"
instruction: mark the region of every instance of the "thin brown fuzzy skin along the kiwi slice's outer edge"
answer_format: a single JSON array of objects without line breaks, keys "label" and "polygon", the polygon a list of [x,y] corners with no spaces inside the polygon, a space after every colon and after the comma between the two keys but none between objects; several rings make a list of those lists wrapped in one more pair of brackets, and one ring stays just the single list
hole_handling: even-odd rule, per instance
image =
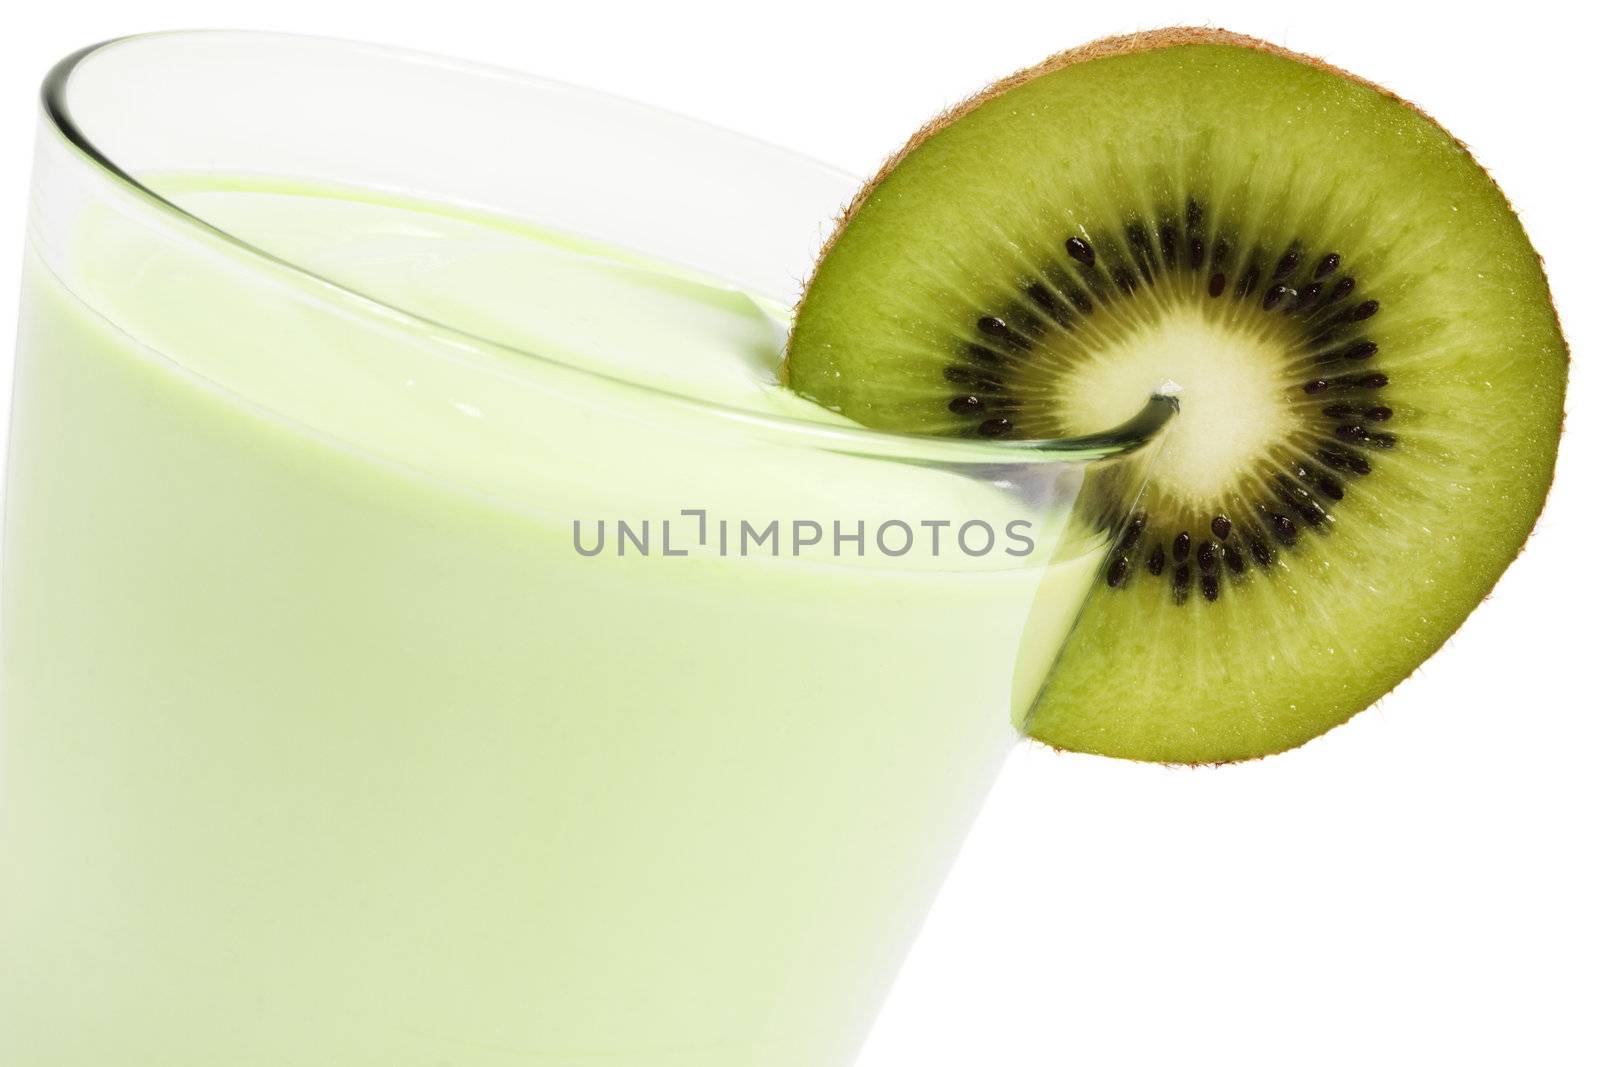
[{"label": "thin brown fuzzy skin along the kiwi slice's outer edge", "polygon": [[[898,152],[894,152],[894,155],[891,155],[888,160],[885,160],[885,163],[878,168],[878,171],[866,184],[862,184],[862,187],[850,200],[850,203],[845,206],[845,210],[838,214],[838,218],[835,221],[835,227],[834,227],[832,234],[829,235],[829,238],[824,242],[822,250],[821,250],[821,253],[816,258],[816,264],[813,266],[811,277],[806,280],[805,290],[802,291],[802,296],[800,296],[798,302],[795,304],[795,322],[798,322],[802,309],[805,307],[805,299],[806,299],[806,296],[811,291],[811,282],[816,278],[816,272],[821,269],[824,259],[832,251],[835,242],[838,242],[840,235],[845,232],[845,229],[854,219],[856,213],[872,197],[872,194],[877,190],[878,184],[891,171],[894,171],[894,168],[898,168],[901,165],[901,162],[906,160],[906,157],[909,157],[912,152],[915,152],[918,147],[922,147],[922,144],[926,142],[930,138],[938,136],[947,126],[950,126],[952,123],[958,122],[960,118],[963,118],[966,114],[976,110],[978,107],[984,106],[990,99],[994,99],[997,96],[1003,96],[1005,93],[1008,93],[1010,90],[1016,88],[1018,85],[1030,82],[1030,80],[1034,80],[1037,77],[1042,77],[1042,75],[1046,75],[1046,74],[1053,74],[1056,70],[1061,70],[1064,67],[1070,67],[1070,66],[1080,64],[1080,62],[1093,62],[1096,59],[1109,59],[1109,58],[1115,58],[1115,56],[1126,56],[1126,54],[1155,51],[1155,50],[1163,50],[1163,48],[1182,48],[1182,46],[1187,46],[1187,45],[1224,45],[1224,46],[1234,46],[1234,48],[1251,48],[1251,50],[1256,50],[1256,51],[1264,51],[1264,53],[1269,53],[1272,56],[1278,56],[1278,58],[1283,58],[1283,59],[1301,62],[1301,64],[1306,64],[1306,66],[1325,70],[1328,74],[1338,75],[1341,78],[1346,78],[1346,80],[1354,82],[1357,85],[1362,85],[1362,86],[1365,86],[1368,90],[1373,90],[1374,93],[1379,93],[1381,96],[1384,96],[1384,98],[1387,98],[1390,101],[1395,101],[1395,102],[1398,102],[1398,104],[1411,109],[1413,112],[1416,112],[1418,115],[1421,115],[1426,122],[1429,122],[1435,128],[1442,130],[1445,133],[1445,136],[1448,136],[1451,139],[1451,142],[1454,142],[1454,146],[1462,154],[1466,154],[1469,158],[1474,160],[1474,163],[1478,166],[1478,170],[1482,170],[1485,173],[1485,176],[1490,179],[1490,184],[1494,187],[1494,192],[1499,194],[1501,200],[1506,203],[1507,211],[1510,211],[1512,218],[1517,219],[1518,227],[1522,226],[1522,219],[1520,219],[1520,216],[1517,216],[1515,208],[1510,203],[1510,198],[1506,197],[1506,192],[1499,187],[1499,182],[1494,181],[1493,174],[1490,174],[1488,170],[1482,163],[1478,163],[1475,157],[1472,157],[1470,149],[1459,138],[1456,138],[1448,130],[1445,130],[1445,126],[1442,123],[1438,123],[1432,115],[1429,115],[1427,112],[1424,112],[1421,107],[1418,107],[1411,101],[1402,98],[1400,94],[1397,94],[1397,93],[1394,93],[1394,91],[1390,91],[1390,90],[1387,90],[1387,88],[1384,88],[1384,86],[1381,86],[1381,85],[1378,85],[1374,82],[1370,82],[1368,78],[1363,78],[1360,75],[1350,74],[1349,70],[1344,70],[1342,67],[1336,67],[1336,66],[1333,66],[1333,64],[1330,64],[1330,62],[1326,62],[1326,61],[1323,61],[1323,59],[1320,59],[1317,56],[1307,56],[1307,54],[1302,54],[1302,53],[1283,48],[1282,45],[1274,45],[1272,42],[1261,40],[1258,37],[1248,37],[1245,34],[1235,34],[1232,30],[1216,29],[1216,27],[1173,26],[1173,27],[1165,27],[1165,29],[1142,30],[1142,32],[1138,32],[1138,34],[1122,34],[1122,35],[1114,35],[1114,37],[1102,37],[1099,40],[1093,40],[1093,42],[1088,42],[1085,45],[1078,45],[1077,48],[1069,48],[1066,51],[1059,51],[1059,53],[1046,58],[1045,61],[1042,61],[1038,64],[1034,64],[1032,67],[1026,67],[1022,70],[1018,70],[1016,74],[1011,74],[1011,75],[1008,75],[1005,78],[1000,78],[998,82],[989,85],[987,88],[984,88],[978,94],[974,94],[974,96],[962,101],[960,104],[955,104],[954,107],[946,109],[944,112],[941,112],[934,118],[931,118],[928,123],[925,123],[915,134],[912,134],[912,138]],[[1523,237],[1526,238],[1526,230],[1523,230]],[[1531,242],[1530,242],[1530,246],[1531,246]],[[1538,253],[1536,253],[1536,256],[1538,256]],[[1546,293],[1550,293],[1549,274],[1544,269],[1544,258],[1538,256],[1538,262],[1539,262],[1541,277],[1542,277],[1542,280],[1546,283]],[[1550,301],[1550,312],[1555,317],[1557,336],[1560,338],[1563,355],[1566,358],[1566,363],[1570,365],[1571,363],[1571,349],[1566,344],[1565,331],[1560,328],[1560,315],[1558,315],[1558,309],[1554,304],[1554,296],[1552,296],[1552,301]],[[784,363],[779,366],[779,378],[784,382],[789,381],[789,362],[787,360],[784,360]],[[1565,397],[1563,397],[1563,416],[1562,416],[1562,426],[1560,426],[1558,432],[1565,434],[1565,427],[1566,427],[1566,418],[1565,418]],[[1542,486],[1542,494],[1541,494],[1541,501],[1539,501],[1539,510],[1536,512],[1536,515],[1542,514],[1546,504],[1549,502],[1549,494],[1550,494],[1552,485],[1554,485],[1554,466],[1552,466],[1550,480],[1546,482],[1546,485]],[[1536,518],[1536,523],[1538,523],[1538,518]],[[1528,539],[1523,541],[1522,547],[1517,550],[1517,555],[1522,555],[1522,552],[1526,550],[1528,541],[1531,541],[1531,537],[1533,537],[1534,533],[1538,533],[1538,525],[1534,525],[1534,528],[1530,531]],[[1515,560],[1515,557],[1514,557],[1514,560]],[[1502,576],[1504,576],[1504,571],[1502,571],[1501,577]],[[1499,577],[1496,577],[1496,581],[1485,592],[1483,600],[1488,600],[1493,595],[1493,590],[1494,590],[1494,587],[1498,584],[1499,584]],[[1454,630],[1450,632],[1450,633],[1445,633],[1438,640],[1438,643],[1434,648],[1430,648],[1427,651],[1427,654],[1422,656],[1418,661],[1418,665],[1421,665],[1421,664],[1427,662],[1429,659],[1432,659],[1432,656],[1453,635],[1454,635]],[[1411,673],[1414,673],[1414,672],[1416,670],[1413,669]],[[1406,677],[1410,677],[1410,675],[1406,675]],[[1394,689],[1390,689],[1390,693]],[[1387,696],[1387,693],[1384,696]],[[1378,697],[1378,701],[1374,701],[1373,705],[1376,705],[1381,701],[1382,701],[1382,696]],[[1349,723],[1349,721],[1352,721],[1352,720],[1347,718],[1347,720],[1344,720],[1344,723],[1338,723],[1334,726],[1334,729],[1338,726],[1342,726],[1342,725]],[[1038,741],[1038,739],[1032,739],[1032,741],[1035,741],[1038,744],[1043,744],[1045,747],[1053,747],[1048,742],[1043,742],[1043,741]],[[1296,745],[1290,745],[1288,750],[1291,750],[1294,747],[1299,747],[1299,745],[1298,744]],[[1056,750],[1062,752],[1062,753],[1067,752],[1064,749],[1056,749]],[[1243,763],[1243,761],[1261,760],[1261,758],[1266,758],[1266,757],[1270,757],[1270,755],[1282,755],[1282,752],[1264,752],[1264,753],[1246,757],[1246,758],[1242,758],[1242,760],[1224,760],[1224,761],[1219,761],[1219,763],[1200,763],[1198,766],[1219,766],[1222,763]],[[1197,766],[1197,765],[1179,765],[1179,766]]]}]

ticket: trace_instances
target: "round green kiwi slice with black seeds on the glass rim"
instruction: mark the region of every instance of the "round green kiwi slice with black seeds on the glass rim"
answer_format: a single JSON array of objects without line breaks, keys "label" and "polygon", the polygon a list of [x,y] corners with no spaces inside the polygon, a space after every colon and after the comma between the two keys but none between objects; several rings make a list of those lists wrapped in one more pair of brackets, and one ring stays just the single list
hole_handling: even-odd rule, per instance
[{"label": "round green kiwi slice with black seeds on the glass rim", "polygon": [[1518,552],[1566,346],[1434,120],[1222,30],[1096,42],[923,128],[850,205],[789,384],[875,427],[1181,413],[1026,721],[1179,763],[1298,745],[1405,678]]}]

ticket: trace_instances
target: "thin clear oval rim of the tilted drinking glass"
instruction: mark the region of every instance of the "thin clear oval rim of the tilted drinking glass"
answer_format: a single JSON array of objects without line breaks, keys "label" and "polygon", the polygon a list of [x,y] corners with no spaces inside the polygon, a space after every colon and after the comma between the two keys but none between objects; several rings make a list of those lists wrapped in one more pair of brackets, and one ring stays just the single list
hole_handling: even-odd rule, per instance
[{"label": "thin clear oval rim of the tilted drinking glass", "polygon": [[533,360],[546,366],[557,366],[563,373],[571,373],[587,379],[603,381],[608,386],[621,387],[630,394],[653,397],[678,406],[704,411],[723,421],[733,421],[739,424],[762,427],[781,437],[798,438],[797,443],[811,443],[814,446],[827,448],[830,451],[842,451],[861,456],[882,456],[882,458],[896,458],[917,462],[949,462],[949,464],[1094,462],[1102,459],[1114,459],[1141,450],[1144,445],[1155,440],[1155,437],[1166,426],[1166,422],[1178,413],[1179,402],[1176,392],[1157,390],[1150,395],[1144,408],[1141,408],[1125,422],[1106,427],[1104,430],[1098,430],[1094,434],[1085,434],[1078,437],[1024,438],[1024,440],[971,440],[958,437],[898,434],[893,430],[878,430],[864,426],[859,427],[838,426],[821,421],[808,421],[795,416],[768,414],[715,400],[704,400],[683,392],[675,392],[670,389],[662,389],[658,386],[630,381],[618,374],[608,374],[605,371],[598,371],[566,360],[557,360],[530,347],[494,341],[470,330],[464,330],[454,323],[442,322],[438,318],[430,318],[402,304],[395,304],[371,296],[358,288],[352,288],[347,283],[328,278],[312,270],[310,267],[298,264],[293,259],[274,254],[261,248],[259,245],[245,240],[237,234],[229,232],[221,226],[202,219],[200,216],[182,208],[171,198],[162,195],[154,187],[139,181],[133,173],[130,173],[117,160],[114,160],[110,154],[102,150],[94,142],[94,139],[77,123],[77,120],[72,117],[70,83],[74,74],[85,61],[112,48],[128,46],[144,40],[181,38],[181,37],[192,37],[202,40],[222,38],[222,37],[250,37],[250,38],[272,40],[280,43],[331,45],[338,48],[349,48],[370,54],[378,54],[394,62],[424,64],[432,67],[442,67],[446,70],[456,70],[467,75],[493,77],[501,80],[520,82],[523,85],[557,88],[565,94],[619,102],[632,109],[637,109],[638,112],[651,114],[661,118],[669,118],[677,123],[685,123],[685,122],[693,123],[706,130],[714,130],[722,136],[734,138],[750,146],[760,146],[770,152],[781,152],[782,155],[792,158],[795,163],[826,170],[840,176],[845,174],[838,171],[838,168],[829,166],[827,163],[813,160],[808,155],[794,152],[782,146],[771,144],[760,138],[731,131],[723,126],[717,126],[715,123],[696,118],[693,115],[682,115],[678,112],[672,112],[662,107],[656,107],[654,104],[646,104],[643,101],[619,96],[614,93],[592,90],[587,86],[573,85],[555,78],[544,78],[510,67],[501,67],[486,62],[456,59],[451,56],[442,56],[435,53],[400,48],[392,45],[376,45],[370,42],[358,42],[338,37],[322,37],[312,34],[283,34],[283,32],[266,32],[266,30],[210,30],[210,29],[157,30],[149,34],[130,34],[123,37],[102,40],[93,45],[86,45],[64,56],[45,75],[45,80],[40,86],[40,104],[43,109],[45,120],[72,149],[82,154],[94,168],[98,168],[112,182],[122,186],[138,200],[144,202],[147,206],[155,208],[158,213],[173,219],[176,224],[190,229],[206,238],[222,240],[227,245],[243,251],[246,256],[259,259],[262,264],[277,267],[280,270],[286,270],[301,280],[312,282],[318,288],[331,290],[338,293],[341,298],[354,301],[357,306],[363,307],[368,312],[378,314],[386,320],[398,318],[400,322],[421,326],[429,333],[435,334],[443,333],[445,336],[459,339],[469,346],[498,350],[502,354],[514,355],[517,358]]}]

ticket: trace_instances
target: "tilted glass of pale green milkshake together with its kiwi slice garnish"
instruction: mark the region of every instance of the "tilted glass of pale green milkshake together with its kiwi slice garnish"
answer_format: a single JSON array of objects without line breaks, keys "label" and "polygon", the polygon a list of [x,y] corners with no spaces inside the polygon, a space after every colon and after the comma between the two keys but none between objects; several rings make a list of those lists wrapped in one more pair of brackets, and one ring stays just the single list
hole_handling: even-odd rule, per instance
[{"label": "tilted glass of pale green milkshake together with its kiwi slice garnish", "polygon": [[866,184],[314,37],[42,99],[3,1067],[845,1067],[1019,739],[1312,741],[1550,486],[1499,187],[1227,30],[1061,51]]}]

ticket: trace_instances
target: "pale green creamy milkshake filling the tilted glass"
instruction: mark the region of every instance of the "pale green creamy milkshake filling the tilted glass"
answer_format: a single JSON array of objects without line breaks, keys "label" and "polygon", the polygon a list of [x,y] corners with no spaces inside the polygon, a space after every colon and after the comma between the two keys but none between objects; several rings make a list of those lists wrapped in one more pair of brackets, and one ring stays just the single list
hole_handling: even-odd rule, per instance
[{"label": "pale green creamy milkshake filling the tilted glass", "polygon": [[0,1062],[846,1062],[1101,563],[1082,475],[867,454],[690,269],[146,184],[234,240],[27,259]]}]

